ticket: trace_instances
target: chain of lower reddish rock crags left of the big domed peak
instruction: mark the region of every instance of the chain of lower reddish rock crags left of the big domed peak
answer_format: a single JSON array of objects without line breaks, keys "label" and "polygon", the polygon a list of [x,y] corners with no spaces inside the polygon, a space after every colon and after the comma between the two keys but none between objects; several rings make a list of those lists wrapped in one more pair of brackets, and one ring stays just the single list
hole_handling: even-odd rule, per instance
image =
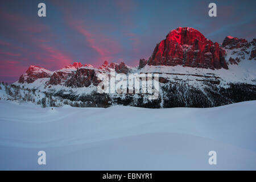
[{"label": "chain of lower reddish rock crags left of the big domed peak", "polygon": [[69,64],[65,68],[59,69],[57,71],[51,72],[47,69],[31,65],[27,72],[24,73],[19,78],[19,83],[32,83],[38,78],[50,78],[48,85],[65,85],[76,87],[88,87],[89,85],[98,85],[100,82],[97,80],[97,73],[99,72],[110,72],[110,69],[115,69],[117,73],[127,74],[131,71],[130,68],[123,62],[108,63],[105,61],[100,68],[94,68],[90,64],[82,65],[81,63]]}]

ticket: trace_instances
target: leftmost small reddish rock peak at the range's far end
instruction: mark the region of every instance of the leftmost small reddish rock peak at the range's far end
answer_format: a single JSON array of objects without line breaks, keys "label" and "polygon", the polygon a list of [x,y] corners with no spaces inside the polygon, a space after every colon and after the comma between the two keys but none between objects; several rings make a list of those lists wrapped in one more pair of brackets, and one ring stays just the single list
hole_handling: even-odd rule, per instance
[{"label": "leftmost small reddish rock peak at the range's far end", "polygon": [[51,77],[52,72],[44,69],[42,67],[38,67],[35,65],[31,65],[26,73],[19,77],[19,83],[27,82],[28,84],[34,82],[38,78],[48,78]]}]

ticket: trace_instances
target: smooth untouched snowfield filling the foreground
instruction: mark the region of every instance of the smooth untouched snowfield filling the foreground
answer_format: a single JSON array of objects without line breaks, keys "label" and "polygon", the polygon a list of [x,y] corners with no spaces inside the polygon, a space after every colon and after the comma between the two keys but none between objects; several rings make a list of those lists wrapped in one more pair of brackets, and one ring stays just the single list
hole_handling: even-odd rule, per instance
[{"label": "smooth untouched snowfield filling the foreground", "polygon": [[[255,170],[255,106],[52,110],[0,101],[0,169]],[[211,150],[217,165],[208,164]]]}]

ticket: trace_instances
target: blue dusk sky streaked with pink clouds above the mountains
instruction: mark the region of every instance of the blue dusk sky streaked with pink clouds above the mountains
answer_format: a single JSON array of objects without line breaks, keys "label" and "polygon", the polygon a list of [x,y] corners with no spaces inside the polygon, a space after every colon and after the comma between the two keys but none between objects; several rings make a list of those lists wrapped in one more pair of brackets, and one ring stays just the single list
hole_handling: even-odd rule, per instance
[{"label": "blue dusk sky streaked with pink clouds above the mountains", "polygon": [[[46,4],[46,17],[38,4]],[[208,5],[217,5],[217,17]],[[0,81],[14,82],[30,65],[54,71],[79,61],[137,66],[177,27],[192,27],[213,42],[251,41],[256,1],[23,0],[1,1]]]}]

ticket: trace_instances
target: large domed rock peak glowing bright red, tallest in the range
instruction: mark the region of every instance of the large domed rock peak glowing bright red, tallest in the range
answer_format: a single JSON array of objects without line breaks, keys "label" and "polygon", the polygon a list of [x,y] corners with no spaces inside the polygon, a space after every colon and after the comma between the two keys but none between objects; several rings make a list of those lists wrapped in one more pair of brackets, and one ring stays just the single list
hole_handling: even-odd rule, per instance
[{"label": "large domed rock peak glowing bright red, tallest in the range", "polygon": [[148,65],[228,69],[225,50],[194,28],[179,27],[156,45]]}]

